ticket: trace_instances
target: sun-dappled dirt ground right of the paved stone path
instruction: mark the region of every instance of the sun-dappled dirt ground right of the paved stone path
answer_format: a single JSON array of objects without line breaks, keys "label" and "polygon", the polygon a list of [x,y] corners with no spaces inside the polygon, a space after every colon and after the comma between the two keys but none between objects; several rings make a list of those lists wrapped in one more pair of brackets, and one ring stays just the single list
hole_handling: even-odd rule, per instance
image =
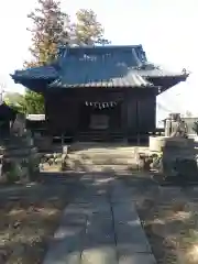
[{"label": "sun-dappled dirt ground right of the paved stone path", "polygon": [[198,263],[198,188],[160,187],[138,201],[158,264]]}]

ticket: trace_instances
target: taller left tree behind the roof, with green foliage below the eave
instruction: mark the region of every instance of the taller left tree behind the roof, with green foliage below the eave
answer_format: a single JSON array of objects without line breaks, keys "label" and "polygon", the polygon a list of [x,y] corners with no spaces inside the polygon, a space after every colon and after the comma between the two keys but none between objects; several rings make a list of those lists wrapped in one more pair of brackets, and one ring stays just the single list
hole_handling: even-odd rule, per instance
[{"label": "taller left tree behind the roof, with green foliage below the eave", "polygon": [[[61,3],[56,0],[38,0],[38,8],[28,15],[33,26],[28,29],[32,33],[30,47],[32,62],[25,62],[25,67],[43,66],[52,63],[57,55],[59,45],[69,40],[69,16],[62,12]],[[42,95],[26,89],[24,97],[28,113],[44,113],[44,98]]]}]

